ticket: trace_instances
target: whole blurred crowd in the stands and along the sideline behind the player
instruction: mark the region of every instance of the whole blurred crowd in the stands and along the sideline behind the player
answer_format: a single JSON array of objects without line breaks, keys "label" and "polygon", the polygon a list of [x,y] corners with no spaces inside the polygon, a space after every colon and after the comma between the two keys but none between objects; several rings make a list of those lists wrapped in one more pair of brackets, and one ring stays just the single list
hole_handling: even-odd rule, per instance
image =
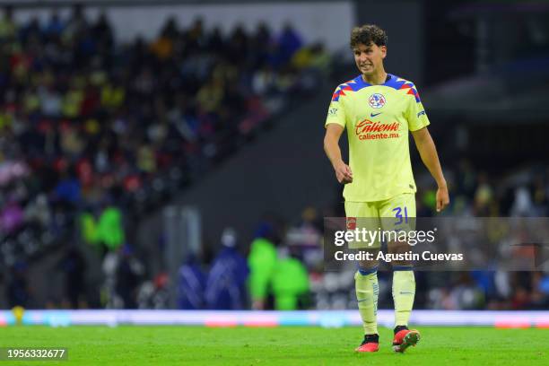
[{"label": "whole blurred crowd in the stands and along the sideline behind the player", "polygon": [[[148,273],[128,223],[313,91],[330,57],[291,25],[222,34],[199,19],[119,44],[106,14],[84,10],[19,23],[8,6],[0,20],[0,282],[8,306],[35,305],[29,264],[62,248],[48,271],[63,274],[64,290],[48,307],[165,309],[168,274]],[[498,177],[466,160],[445,168],[448,216],[549,214],[546,167]],[[418,216],[430,217],[431,179],[416,178]],[[252,243],[228,228],[211,260],[195,253],[180,267],[179,308],[355,309],[354,269],[322,263],[322,217],[344,216],[343,205],[321,209],[292,224],[265,219]],[[82,244],[100,258],[96,297]],[[390,281],[379,273],[380,308],[392,306]],[[549,272],[417,272],[416,281],[418,309],[549,306]]]}]

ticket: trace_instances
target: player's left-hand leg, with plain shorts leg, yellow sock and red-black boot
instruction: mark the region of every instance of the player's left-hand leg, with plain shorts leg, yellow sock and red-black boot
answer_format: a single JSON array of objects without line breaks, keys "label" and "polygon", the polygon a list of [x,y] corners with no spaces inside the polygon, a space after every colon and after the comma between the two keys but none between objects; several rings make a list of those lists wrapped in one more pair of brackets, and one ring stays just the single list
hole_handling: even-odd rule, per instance
[{"label": "player's left-hand leg, with plain shorts leg, yellow sock and red-black boot", "polygon": [[[379,222],[377,218],[378,209],[370,203],[345,202],[345,214],[348,220],[347,230],[362,229],[364,226],[368,228],[373,221]],[[375,226],[379,226],[379,223]],[[375,258],[375,253],[379,250],[379,243],[369,246],[364,242],[350,242],[349,248],[368,251]],[[376,352],[379,349],[377,322],[379,283],[377,260],[359,262],[359,269],[354,274],[354,286],[362,318],[362,327],[364,328],[362,344],[355,351]]]}]

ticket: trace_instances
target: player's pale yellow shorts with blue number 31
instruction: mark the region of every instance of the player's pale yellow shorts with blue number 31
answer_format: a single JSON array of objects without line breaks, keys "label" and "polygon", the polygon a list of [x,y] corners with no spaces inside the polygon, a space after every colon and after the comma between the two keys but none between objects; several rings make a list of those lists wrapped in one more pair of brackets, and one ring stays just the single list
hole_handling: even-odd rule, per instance
[{"label": "player's pale yellow shorts with blue number 31", "polygon": [[[405,193],[375,202],[345,201],[345,216],[348,231],[355,229],[366,229],[367,231],[414,230],[415,195]],[[369,241],[349,242],[349,248],[379,247],[379,235],[376,239]]]}]

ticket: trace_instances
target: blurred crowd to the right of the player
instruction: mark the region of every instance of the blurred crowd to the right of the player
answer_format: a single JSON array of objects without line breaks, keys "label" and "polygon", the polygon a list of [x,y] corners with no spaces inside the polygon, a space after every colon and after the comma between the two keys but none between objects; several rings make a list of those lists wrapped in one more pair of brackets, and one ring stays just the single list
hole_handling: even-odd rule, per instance
[{"label": "blurred crowd to the right of the player", "polygon": [[[549,169],[545,165],[510,167],[504,174],[492,176],[475,167],[472,161],[462,160],[454,166],[449,165],[446,175],[452,202],[445,215],[525,218],[549,215]],[[418,216],[434,215],[434,190],[420,190],[417,201]],[[541,263],[546,257],[545,248],[541,250],[538,253],[525,251],[532,261]],[[476,255],[481,252],[478,250]],[[534,272],[500,269],[418,273],[418,276],[418,289],[423,288],[423,295],[418,300],[426,308],[546,309],[549,306],[547,267]]]}]

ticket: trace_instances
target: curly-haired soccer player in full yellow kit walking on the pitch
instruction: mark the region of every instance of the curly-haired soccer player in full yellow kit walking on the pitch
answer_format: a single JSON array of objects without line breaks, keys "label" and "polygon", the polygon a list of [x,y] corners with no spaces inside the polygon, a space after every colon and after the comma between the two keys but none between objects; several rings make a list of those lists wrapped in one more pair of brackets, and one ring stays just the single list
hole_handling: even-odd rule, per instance
[{"label": "curly-haired soccer player in full yellow kit walking on the pitch", "polygon": [[[387,56],[387,35],[378,26],[355,27],[350,46],[361,74],[335,89],[324,139],[324,150],[334,167],[335,177],[345,185],[347,220],[393,218],[402,222],[405,218],[407,222],[408,217],[415,217],[416,187],[408,131],[414,136],[422,161],[438,185],[436,201],[440,212],[449,205],[448,187],[427,130],[429,119],[414,83],[386,73],[383,59]],[[349,165],[343,161],[339,148],[344,128],[349,140]],[[391,244],[388,243],[389,251]],[[393,349],[405,352],[420,339],[418,331],[407,327],[414,304],[414,272],[410,262],[393,261],[392,265],[396,322]],[[357,352],[379,349],[377,266],[374,260],[361,261],[354,276],[364,327],[364,339]]]}]

